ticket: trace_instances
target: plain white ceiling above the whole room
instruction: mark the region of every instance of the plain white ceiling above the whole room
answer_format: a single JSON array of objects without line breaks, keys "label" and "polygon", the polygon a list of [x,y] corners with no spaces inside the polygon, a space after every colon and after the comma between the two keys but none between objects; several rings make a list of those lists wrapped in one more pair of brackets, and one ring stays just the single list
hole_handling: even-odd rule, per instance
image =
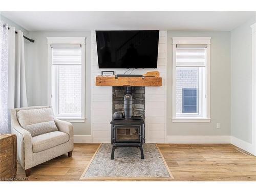
[{"label": "plain white ceiling above the whole room", "polygon": [[93,29],[231,31],[256,12],[245,11],[3,11],[1,14],[29,31]]}]

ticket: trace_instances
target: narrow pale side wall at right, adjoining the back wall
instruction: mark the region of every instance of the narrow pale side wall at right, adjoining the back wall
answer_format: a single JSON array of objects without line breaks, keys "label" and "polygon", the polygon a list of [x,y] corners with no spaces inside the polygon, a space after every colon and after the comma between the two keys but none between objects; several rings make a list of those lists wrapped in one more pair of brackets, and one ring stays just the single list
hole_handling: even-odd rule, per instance
[{"label": "narrow pale side wall at right, adjoining the back wall", "polygon": [[245,145],[252,142],[250,25],[255,22],[252,18],[231,31],[231,136]]}]

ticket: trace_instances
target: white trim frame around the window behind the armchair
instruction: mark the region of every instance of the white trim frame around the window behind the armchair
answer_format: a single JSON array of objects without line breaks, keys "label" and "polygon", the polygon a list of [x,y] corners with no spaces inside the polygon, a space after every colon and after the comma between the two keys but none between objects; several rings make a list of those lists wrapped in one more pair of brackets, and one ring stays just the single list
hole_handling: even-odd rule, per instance
[{"label": "white trim frame around the window behind the armchair", "polygon": [[86,37],[47,37],[47,51],[48,51],[48,68],[47,68],[47,102],[48,105],[52,105],[51,103],[51,82],[52,82],[52,71],[51,71],[51,66],[52,66],[52,48],[51,44],[81,44],[81,51],[82,51],[82,63],[81,63],[81,68],[82,68],[82,114],[81,118],[67,118],[67,117],[58,117],[61,120],[66,120],[69,122],[85,122],[85,40]]}]

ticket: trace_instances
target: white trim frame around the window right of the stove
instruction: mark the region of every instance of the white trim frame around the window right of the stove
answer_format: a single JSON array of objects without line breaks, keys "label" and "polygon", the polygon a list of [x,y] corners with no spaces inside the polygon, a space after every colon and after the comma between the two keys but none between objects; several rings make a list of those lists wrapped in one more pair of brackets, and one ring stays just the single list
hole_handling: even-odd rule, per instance
[{"label": "white trim frame around the window right of the stove", "polygon": [[[173,37],[173,122],[210,122],[210,39],[211,37]],[[176,45],[207,44],[206,48],[206,117],[176,117]]]}]

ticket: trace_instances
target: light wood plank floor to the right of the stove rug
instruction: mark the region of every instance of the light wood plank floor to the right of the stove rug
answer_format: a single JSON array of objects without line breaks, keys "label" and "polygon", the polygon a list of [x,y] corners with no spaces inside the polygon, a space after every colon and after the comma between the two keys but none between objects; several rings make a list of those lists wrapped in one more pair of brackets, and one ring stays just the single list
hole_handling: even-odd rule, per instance
[{"label": "light wood plank floor to the right of the stove rug", "polygon": [[256,157],[231,144],[161,144],[175,181],[255,181]]}]

